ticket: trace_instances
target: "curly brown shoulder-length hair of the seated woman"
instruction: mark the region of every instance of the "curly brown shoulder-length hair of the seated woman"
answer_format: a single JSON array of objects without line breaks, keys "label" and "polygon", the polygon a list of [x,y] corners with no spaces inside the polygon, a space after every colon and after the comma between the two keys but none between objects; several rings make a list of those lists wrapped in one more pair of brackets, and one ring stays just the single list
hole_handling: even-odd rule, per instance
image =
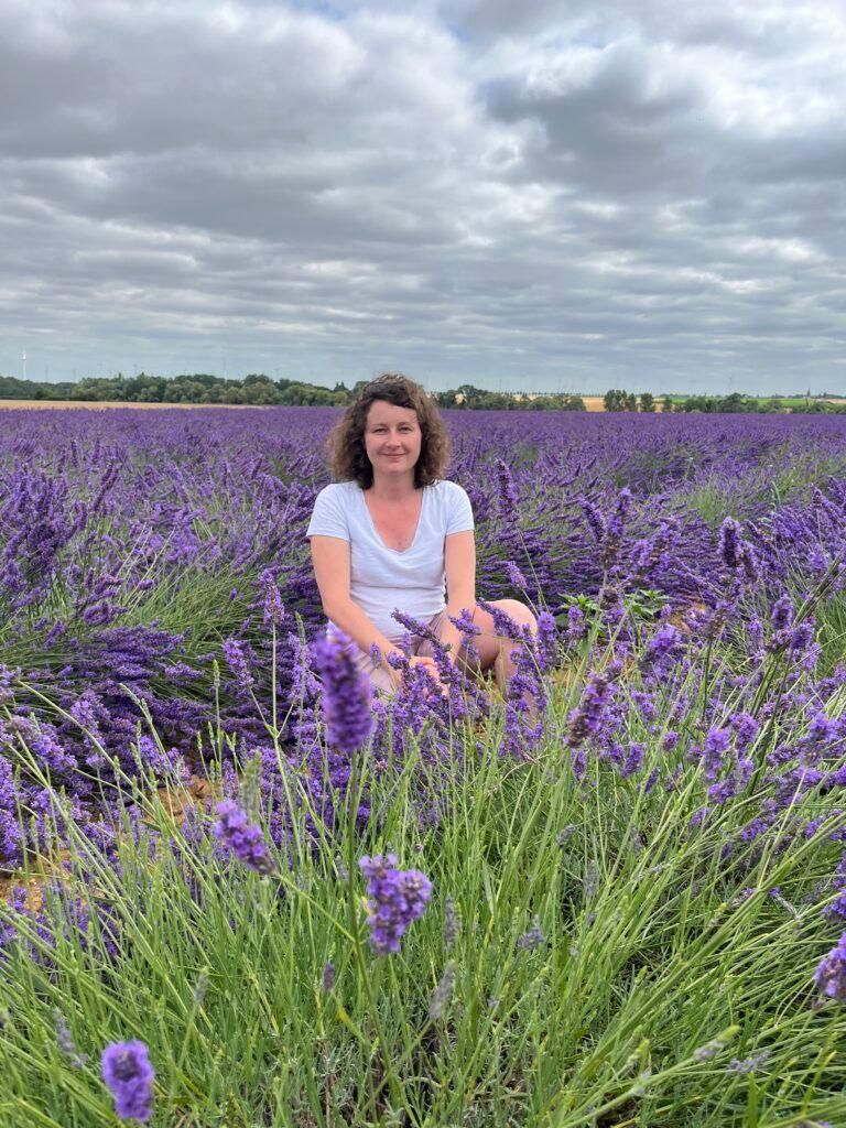
[{"label": "curly brown shoulder-length hair of the seated woman", "polygon": [[364,424],[377,399],[395,407],[411,407],[421,430],[420,458],[414,467],[414,485],[434,485],[449,461],[449,434],[432,399],[402,372],[382,372],[365,385],[335,424],[326,440],[332,473],[338,482],[356,482],[362,490],[373,484],[373,467],[364,449]]}]

